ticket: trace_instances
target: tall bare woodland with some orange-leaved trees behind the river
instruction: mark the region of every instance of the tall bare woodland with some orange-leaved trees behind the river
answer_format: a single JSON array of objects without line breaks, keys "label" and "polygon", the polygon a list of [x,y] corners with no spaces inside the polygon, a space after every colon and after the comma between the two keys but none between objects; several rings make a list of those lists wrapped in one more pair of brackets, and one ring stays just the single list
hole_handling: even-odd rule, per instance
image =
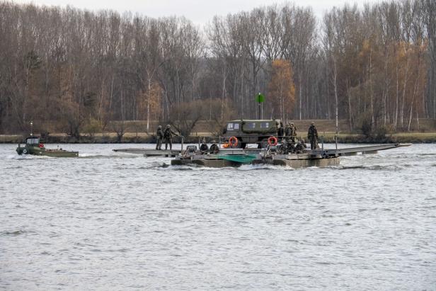
[{"label": "tall bare woodland with some orange-leaved trees behind the river", "polygon": [[189,137],[259,118],[259,107],[284,122],[340,120],[340,133],[365,135],[350,141],[436,132],[435,18],[432,0],[343,4],[321,17],[271,4],[204,25],[0,0],[0,134],[33,122],[35,133],[71,136],[56,140],[112,142],[105,132],[115,132],[130,142],[125,127],[150,133],[159,120]]}]

